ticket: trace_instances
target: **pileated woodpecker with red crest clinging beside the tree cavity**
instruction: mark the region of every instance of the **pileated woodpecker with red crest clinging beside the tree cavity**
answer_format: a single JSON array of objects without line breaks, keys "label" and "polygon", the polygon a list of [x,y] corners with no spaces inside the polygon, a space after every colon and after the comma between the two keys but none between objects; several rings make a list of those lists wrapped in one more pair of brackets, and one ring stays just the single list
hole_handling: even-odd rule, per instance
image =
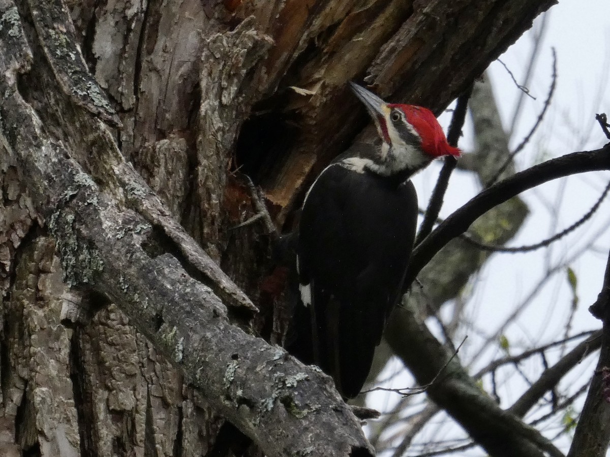
[{"label": "pileated woodpecker with red crest clinging beside the tree cavity", "polygon": [[346,398],[361,391],[401,296],[418,214],[410,178],[434,158],[460,155],[427,108],[387,104],[350,85],[381,144],[354,145],[306,194],[296,249],[303,306],[293,324],[300,335],[289,344],[304,363],[331,375]]}]

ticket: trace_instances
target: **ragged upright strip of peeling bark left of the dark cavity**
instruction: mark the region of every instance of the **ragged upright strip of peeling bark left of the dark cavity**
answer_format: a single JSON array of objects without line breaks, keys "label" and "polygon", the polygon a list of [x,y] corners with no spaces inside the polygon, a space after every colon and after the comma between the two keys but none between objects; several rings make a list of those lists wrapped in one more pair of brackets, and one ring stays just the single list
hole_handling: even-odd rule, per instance
[{"label": "ragged upright strip of peeling bark left of the dark cavity", "polygon": [[[201,55],[201,105],[197,138],[197,193],[201,200],[201,239],[207,252],[220,259],[213,243],[218,242],[226,174],[231,166],[233,145],[242,121],[258,99],[256,81],[246,74],[264,57],[273,41],[254,27],[254,17],[242,21],[233,31],[206,40]],[[247,94],[247,96],[246,96]]]}]

